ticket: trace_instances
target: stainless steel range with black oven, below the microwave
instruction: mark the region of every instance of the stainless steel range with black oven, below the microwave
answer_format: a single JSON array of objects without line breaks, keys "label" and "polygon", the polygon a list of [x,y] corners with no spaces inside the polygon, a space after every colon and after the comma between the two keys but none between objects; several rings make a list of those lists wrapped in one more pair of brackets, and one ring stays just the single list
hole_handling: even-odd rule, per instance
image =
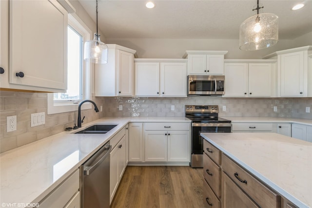
[{"label": "stainless steel range with black oven, below the microwave", "polygon": [[203,138],[201,132],[231,132],[230,120],[218,117],[217,105],[186,105],[185,117],[192,120],[192,168],[203,167]]}]

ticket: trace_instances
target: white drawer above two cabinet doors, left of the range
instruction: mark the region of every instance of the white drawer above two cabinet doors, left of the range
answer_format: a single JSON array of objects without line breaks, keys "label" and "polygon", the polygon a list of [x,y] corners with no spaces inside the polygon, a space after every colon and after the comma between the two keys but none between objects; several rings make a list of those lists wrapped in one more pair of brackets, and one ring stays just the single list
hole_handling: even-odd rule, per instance
[{"label": "white drawer above two cabinet doors, left of the range", "polygon": [[168,123],[144,123],[144,130],[182,130],[182,131],[189,131],[191,129],[191,123],[175,123],[175,122],[168,122]]}]

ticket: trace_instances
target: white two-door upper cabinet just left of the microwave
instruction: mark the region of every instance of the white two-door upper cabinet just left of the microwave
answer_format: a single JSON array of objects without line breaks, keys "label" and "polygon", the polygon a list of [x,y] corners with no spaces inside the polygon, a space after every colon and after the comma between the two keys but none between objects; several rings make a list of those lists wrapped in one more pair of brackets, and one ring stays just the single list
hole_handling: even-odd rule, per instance
[{"label": "white two-door upper cabinet just left of the microwave", "polygon": [[184,59],[135,60],[135,96],[186,97],[186,83]]}]

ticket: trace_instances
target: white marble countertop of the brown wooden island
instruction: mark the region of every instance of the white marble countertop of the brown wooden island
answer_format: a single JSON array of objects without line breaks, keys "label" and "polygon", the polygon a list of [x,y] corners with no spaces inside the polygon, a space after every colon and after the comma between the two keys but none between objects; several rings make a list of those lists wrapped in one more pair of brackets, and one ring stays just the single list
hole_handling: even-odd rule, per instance
[{"label": "white marble countertop of the brown wooden island", "polygon": [[312,208],[312,143],[277,133],[201,133],[300,208]]}]

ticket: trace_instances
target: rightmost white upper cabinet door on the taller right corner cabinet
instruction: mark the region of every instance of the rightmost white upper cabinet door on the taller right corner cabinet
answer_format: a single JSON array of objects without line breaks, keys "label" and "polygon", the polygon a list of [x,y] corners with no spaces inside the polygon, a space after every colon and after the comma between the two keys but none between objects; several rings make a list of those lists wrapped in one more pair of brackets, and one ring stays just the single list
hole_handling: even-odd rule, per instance
[{"label": "rightmost white upper cabinet door on the taller right corner cabinet", "polygon": [[281,96],[306,96],[303,91],[303,52],[280,55]]}]

